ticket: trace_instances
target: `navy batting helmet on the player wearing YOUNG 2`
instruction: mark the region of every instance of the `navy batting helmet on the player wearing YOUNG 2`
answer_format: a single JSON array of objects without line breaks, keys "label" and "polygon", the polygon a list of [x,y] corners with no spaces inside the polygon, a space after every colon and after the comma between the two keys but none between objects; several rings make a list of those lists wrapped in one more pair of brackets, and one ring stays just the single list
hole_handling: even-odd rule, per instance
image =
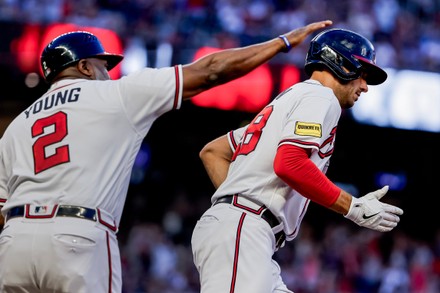
[{"label": "navy batting helmet on the player wearing YOUNG 2", "polygon": [[69,32],[53,39],[43,50],[40,61],[44,78],[51,82],[63,69],[91,57],[107,60],[108,70],[124,58],[119,54],[105,52],[98,38],[89,32]]}]

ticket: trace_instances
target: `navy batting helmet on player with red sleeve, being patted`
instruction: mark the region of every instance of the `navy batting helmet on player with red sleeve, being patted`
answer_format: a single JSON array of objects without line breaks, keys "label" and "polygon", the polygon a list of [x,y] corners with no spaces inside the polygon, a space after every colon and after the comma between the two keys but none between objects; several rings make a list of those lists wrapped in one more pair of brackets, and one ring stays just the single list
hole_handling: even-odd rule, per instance
[{"label": "navy batting helmet on player with red sleeve, being patted", "polygon": [[376,65],[373,44],[363,36],[346,29],[329,29],[310,42],[305,71],[310,76],[317,66],[324,65],[342,81],[367,74],[367,84],[377,85],[387,79],[387,73]]}]

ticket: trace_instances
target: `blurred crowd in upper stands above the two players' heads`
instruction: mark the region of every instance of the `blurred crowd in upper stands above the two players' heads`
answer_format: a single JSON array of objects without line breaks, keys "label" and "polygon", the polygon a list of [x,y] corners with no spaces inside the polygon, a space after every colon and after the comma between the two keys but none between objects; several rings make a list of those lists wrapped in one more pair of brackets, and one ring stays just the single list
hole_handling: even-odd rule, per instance
[{"label": "blurred crowd in upper stands above the two players' heads", "polygon": [[[440,2],[436,0],[2,0],[0,21],[69,22],[109,28],[126,45],[174,48],[186,63],[202,45],[227,48],[266,40],[331,19],[374,41],[383,67],[439,71]],[[302,66],[307,44],[283,56]],[[152,57],[150,65],[154,66]]]}]

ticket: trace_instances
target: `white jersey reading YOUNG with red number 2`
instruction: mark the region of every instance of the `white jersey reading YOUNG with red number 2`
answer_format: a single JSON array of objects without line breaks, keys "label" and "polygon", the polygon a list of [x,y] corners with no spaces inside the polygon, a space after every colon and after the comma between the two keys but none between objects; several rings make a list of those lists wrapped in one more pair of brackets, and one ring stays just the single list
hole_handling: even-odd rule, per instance
[{"label": "white jersey reading YOUNG with red number 2", "polygon": [[100,208],[119,225],[134,160],[153,122],[180,108],[181,66],[119,80],[61,80],[0,140],[2,213],[25,204]]}]

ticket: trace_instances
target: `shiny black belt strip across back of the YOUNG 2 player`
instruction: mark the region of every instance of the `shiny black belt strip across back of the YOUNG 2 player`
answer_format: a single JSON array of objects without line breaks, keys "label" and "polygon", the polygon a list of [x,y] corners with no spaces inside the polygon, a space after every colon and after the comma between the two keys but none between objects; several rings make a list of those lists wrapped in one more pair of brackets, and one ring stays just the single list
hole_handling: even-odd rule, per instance
[{"label": "shiny black belt strip across back of the YOUNG 2 player", "polygon": [[26,218],[52,218],[54,216],[74,217],[74,218],[91,220],[95,222],[97,219],[95,209],[79,207],[79,206],[60,205],[57,208],[56,213],[54,215],[47,215],[47,216],[26,215],[25,206],[13,207],[7,212],[6,220],[10,220],[11,218],[15,218],[15,217],[23,217],[23,216],[25,216]]}]

